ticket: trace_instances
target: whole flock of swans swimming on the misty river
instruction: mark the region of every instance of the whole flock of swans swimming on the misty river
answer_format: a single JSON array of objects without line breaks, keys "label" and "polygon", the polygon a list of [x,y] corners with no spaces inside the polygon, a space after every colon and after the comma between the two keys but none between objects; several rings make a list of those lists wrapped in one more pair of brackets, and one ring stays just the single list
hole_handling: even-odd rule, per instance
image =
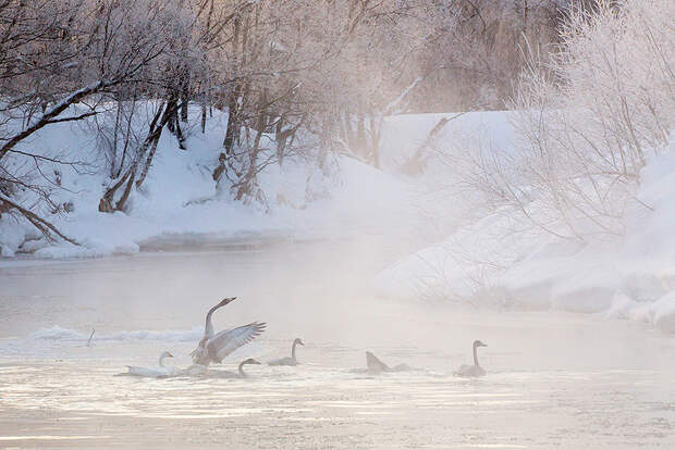
[{"label": "whole flock of swans swimming on the misty river", "polygon": [[[164,365],[164,360],[167,358],[173,358],[173,354],[171,354],[171,352],[164,351],[159,357],[159,365],[157,367],[140,367],[127,365],[128,372],[119,375],[133,375],[149,378],[168,378],[173,376],[206,374],[209,364],[222,363],[223,359],[225,359],[234,350],[245,346],[246,343],[254,340],[256,337],[260,336],[267,327],[267,324],[263,322],[251,322],[248,325],[243,325],[236,328],[225,329],[216,333],[212,322],[213,313],[220,308],[230,304],[235,299],[236,297],[224,298],[207,312],[206,324],[204,326],[204,336],[199,340],[197,348],[191,353],[193,364],[189,367],[179,368]],[[297,346],[305,346],[305,343],[302,339],[296,338],[291,347],[291,357],[284,357],[278,360],[269,361],[268,365],[298,365],[299,363],[295,354]],[[488,346],[480,340],[475,340],[472,347],[474,364],[462,365],[459,368],[457,368],[457,371],[453,373],[453,375],[461,377],[479,377],[486,374],[484,368],[482,368],[478,363],[478,348]],[[248,358],[240,363],[237,372],[218,371],[217,373],[214,373],[214,375],[222,378],[246,378],[247,374],[244,372],[244,365],[247,364],[260,364],[260,362],[253,358]],[[406,364],[398,364],[394,367],[390,367],[369,351],[366,352],[366,372],[371,375],[413,370]]]}]

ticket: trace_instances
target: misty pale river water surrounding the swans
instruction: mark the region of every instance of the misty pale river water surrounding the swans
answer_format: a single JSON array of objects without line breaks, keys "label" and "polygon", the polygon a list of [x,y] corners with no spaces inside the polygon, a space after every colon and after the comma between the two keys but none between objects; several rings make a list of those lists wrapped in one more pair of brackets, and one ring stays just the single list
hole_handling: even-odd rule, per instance
[{"label": "misty pale river water surrounding the swans", "polygon": [[[377,298],[368,280],[385,259],[372,254],[290,242],[0,262],[0,448],[675,448],[672,336]],[[225,296],[238,298],[218,329],[268,330],[222,368],[286,355],[295,337],[302,364],[247,366],[247,379],[114,376],[163,350],[187,366]],[[474,339],[489,346],[488,375],[453,377]],[[415,370],[369,376],[366,350]]]}]

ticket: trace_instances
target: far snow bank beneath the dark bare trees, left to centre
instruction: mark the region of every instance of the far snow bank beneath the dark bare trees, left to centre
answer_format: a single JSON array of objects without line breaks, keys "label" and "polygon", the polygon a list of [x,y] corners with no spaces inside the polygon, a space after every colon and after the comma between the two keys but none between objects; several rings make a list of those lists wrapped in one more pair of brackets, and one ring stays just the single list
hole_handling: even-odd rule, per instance
[{"label": "far snow bank beneath the dark bare trees, left to centre", "polygon": [[[198,115],[199,111],[193,113]],[[447,147],[445,143],[452,142],[453,149],[462,152],[476,135],[490,146],[510,141],[507,114],[462,114],[445,125],[432,146],[424,149],[424,179],[403,175],[402,164],[426,141],[438,121],[455,115],[386,117],[382,170],[345,155],[331,155],[323,171],[316,161],[299,157],[284,159],[282,166],[270,165],[259,175],[267,201],[263,205],[244,204],[234,201],[229,192],[217,190],[211,173],[222,149],[228,116],[214,111],[205,134],[185,130],[187,150],[181,150],[171,134],[162,133],[143,189],[133,192],[127,213],[98,212],[107,178],[94,126],[86,121],[53,124],[26,145],[33,151],[41,149],[46,154],[87,165],[45,164],[42,172],[54,182],[49,187],[51,197],[71,211],[56,215],[40,212],[83,246],[47,242],[30,225],[4,215],[0,218],[1,257],[19,252],[37,258],[93,258],[132,254],[143,246],[162,241],[256,236],[340,239],[386,235],[392,241],[419,248],[441,239],[455,227],[456,217],[462,215],[458,211],[471,208],[470,199],[453,192],[449,184],[453,171],[435,151],[435,143]],[[199,123],[198,117],[191,123]],[[60,187],[56,187],[57,178]],[[33,199],[24,200],[29,204]]]}]

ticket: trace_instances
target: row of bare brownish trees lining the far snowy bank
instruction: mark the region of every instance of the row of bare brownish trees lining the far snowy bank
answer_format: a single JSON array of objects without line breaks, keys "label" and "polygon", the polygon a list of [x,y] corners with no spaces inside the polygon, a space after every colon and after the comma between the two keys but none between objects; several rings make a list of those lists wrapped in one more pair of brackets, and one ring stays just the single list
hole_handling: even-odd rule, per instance
[{"label": "row of bare brownish trees lining the far snowy bank", "polygon": [[[46,217],[68,208],[51,200],[56,184],[41,164],[86,158],[45,154],[29,141],[64,121],[95,129],[106,175],[98,210],[127,211],[163,133],[189,151],[191,104],[202,132],[209,111],[228,113],[211,171],[219,191],[238,200],[263,201],[258,174],[291,157],[321,171],[334,153],[379,166],[385,115],[500,104],[496,80],[518,64],[514,36],[531,40],[550,3],[0,1],[0,214],[61,235]],[[467,89],[488,93],[440,95]]]}]

